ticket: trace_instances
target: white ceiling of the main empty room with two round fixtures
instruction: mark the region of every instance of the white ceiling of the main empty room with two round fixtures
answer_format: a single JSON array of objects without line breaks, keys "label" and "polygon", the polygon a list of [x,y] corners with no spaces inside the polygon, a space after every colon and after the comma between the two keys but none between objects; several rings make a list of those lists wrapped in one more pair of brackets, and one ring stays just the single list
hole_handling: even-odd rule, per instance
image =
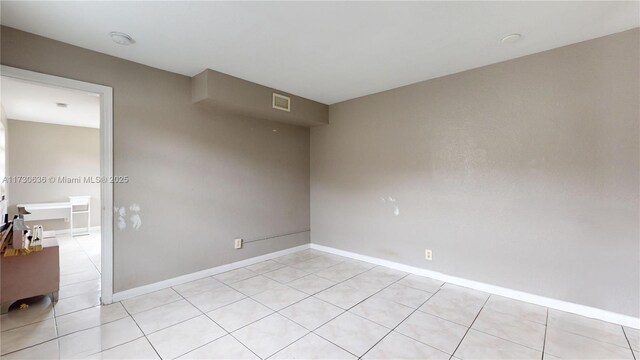
[{"label": "white ceiling of the main empty room with two round fixtures", "polygon": [[[326,104],[640,25],[639,2],[2,1],[4,25]],[[110,31],[130,34],[124,47]],[[515,44],[500,39],[521,33]]]}]

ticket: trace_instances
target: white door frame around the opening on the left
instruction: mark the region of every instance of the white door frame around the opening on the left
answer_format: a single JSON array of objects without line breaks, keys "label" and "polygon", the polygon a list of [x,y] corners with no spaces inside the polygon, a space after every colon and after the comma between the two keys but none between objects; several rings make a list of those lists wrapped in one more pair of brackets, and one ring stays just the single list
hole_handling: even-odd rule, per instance
[{"label": "white door frame around the opening on the left", "polygon": [[[0,75],[100,96],[100,176],[113,178],[113,88],[0,65]],[[90,174],[92,175],[92,174]],[[100,184],[101,303],[113,302],[113,183]]]}]

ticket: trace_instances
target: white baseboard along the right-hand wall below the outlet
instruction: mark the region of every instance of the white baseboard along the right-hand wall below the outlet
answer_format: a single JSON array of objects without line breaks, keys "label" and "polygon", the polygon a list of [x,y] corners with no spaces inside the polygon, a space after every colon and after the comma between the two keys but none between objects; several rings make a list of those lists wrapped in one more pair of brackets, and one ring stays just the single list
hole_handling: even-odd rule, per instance
[{"label": "white baseboard along the right-hand wall below the outlet", "polygon": [[503,288],[496,285],[486,284],[479,281],[467,280],[447,274],[443,274],[437,271],[422,269],[414,266],[404,265],[397,262],[384,260],[376,257],[361,255],[350,251],[340,250],[324,245],[311,244],[312,249],[328,252],[335,255],[345,256],[355,260],[366,261],[372,264],[386,266],[388,268],[416,274],[420,276],[430,277],[432,279],[444,281],[454,285],[460,285],[475,290],[484,291],[490,294],[500,295],[511,299],[521,300],[536,305],[546,306],[551,309],[562,310],[573,314],[578,314],[594,319],[607,321],[614,324],[620,324],[628,326],[634,329],[640,329],[640,318],[634,318],[632,316],[614,313],[607,310],[602,310],[586,305],[580,305],[571,303],[568,301],[562,301],[552,299],[544,296],[534,295],[523,291]]}]

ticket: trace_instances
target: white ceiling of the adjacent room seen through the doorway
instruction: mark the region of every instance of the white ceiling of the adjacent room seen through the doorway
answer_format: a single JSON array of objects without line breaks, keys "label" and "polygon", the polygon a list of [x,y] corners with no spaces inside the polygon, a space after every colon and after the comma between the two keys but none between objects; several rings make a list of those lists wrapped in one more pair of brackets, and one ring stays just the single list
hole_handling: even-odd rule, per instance
[{"label": "white ceiling of the adjacent room seen through the doorway", "polygon": [[[0,101],[11,120],[100,127],[100,97],[96,94],[2,77]],[[61,108],[56,103],[68,106]]]}]

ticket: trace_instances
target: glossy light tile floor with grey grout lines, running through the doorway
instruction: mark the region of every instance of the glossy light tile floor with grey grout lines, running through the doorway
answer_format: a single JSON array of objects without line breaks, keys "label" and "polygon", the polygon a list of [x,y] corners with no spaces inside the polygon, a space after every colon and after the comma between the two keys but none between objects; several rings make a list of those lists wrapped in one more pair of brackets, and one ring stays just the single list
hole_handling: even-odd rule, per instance
[{"label": "glossy light tile floor with grey grout lines, running through the doorway", "polygon": [[3,315],[3,359],[640,360],[639,330],[317,250],[97,306],[95,243],[61,240],[60,302]]}]

